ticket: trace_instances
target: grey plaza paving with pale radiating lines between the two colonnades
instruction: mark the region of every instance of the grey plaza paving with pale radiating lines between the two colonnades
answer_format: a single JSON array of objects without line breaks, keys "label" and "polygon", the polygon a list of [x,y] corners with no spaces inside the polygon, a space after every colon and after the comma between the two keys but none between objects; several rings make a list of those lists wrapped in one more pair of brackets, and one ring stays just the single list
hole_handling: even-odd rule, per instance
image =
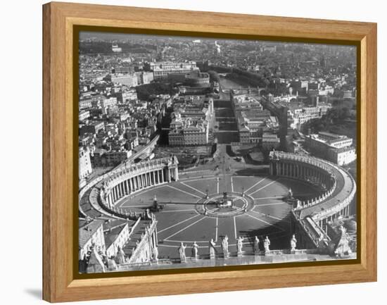
[{"label": "grey plaza paving with pale radiating lines between the two colonnades", "polygon": [[[236,251],[236,238],[244,237],[243,249],[251,249],[253,238],[269,236],[271,249],[287,247],[291,235],[291,206],[284,197],[288,189],[295,197],[315,194],[312,186],[298,180],[274,178],[267,175],[184,175],[177,182],[161,185],[122,199],[120,208],[144,211],[156,199],[163,209],[155,212],[158,220],[158,247],[160,258],[178,258],[177,247],[184,242],[188,247],[199,245],[198,254],[208,254],[208,241],[214,239],[220,249],[221,237],[229,237],[230,251]],[[239,213],[224,208],[222,213],[205,215],[203,201],[222,197],[227,192],[234,198]],[[243,211],[241,194],[251,204]],[[239,198],[238,198],[239,197]],[[216,209],[207,206],[208,209]],[[234,249],[235,248],[235,249]]]}]

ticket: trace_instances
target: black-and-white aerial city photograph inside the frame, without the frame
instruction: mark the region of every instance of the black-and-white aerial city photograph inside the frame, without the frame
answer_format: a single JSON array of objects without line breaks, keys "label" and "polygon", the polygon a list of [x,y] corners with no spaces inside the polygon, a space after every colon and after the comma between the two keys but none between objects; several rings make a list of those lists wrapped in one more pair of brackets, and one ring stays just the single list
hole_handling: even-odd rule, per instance
[{"label": "black-and-white aerial city photograph inside the frame, without the frame", "polygon": [[79,273],[357,259],[357,46],[78,51]]}]

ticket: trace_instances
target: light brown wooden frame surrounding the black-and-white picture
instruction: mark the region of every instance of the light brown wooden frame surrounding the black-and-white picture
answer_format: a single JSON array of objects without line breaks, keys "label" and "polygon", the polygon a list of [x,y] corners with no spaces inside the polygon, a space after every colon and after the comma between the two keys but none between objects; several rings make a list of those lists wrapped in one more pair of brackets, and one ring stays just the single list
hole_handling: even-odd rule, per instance
[{"label": "light brown wooden frame surrounding the black-and-white picture", "polygon": [[[358,181],[360,251],[355,263],[75,276],[74,27],[243,35],[296,42],[352,42],[360,55]],[[52,2],[43,6],[43,299],[78,301],[376,281],[376,24]],[[75,194],[75,197],[74,197]]]}]

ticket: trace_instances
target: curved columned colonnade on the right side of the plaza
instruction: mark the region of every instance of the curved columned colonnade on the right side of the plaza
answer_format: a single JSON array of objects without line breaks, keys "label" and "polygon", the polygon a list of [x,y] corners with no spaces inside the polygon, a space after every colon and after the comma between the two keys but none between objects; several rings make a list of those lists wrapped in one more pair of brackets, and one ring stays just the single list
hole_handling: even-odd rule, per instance
[{"label": "curved columned colonnade on the right side of the plaza", "polygon": [[[327,224],[339,216],[349,216],[350,203],[356,194],[356,183],[350,173],[320,158],[272,151],[271,175],[284,176],[318,185],[319,196],[294,200],[293,216],[316,247],[328,246]],[[302,239],[302,237],[300,237]]]}]

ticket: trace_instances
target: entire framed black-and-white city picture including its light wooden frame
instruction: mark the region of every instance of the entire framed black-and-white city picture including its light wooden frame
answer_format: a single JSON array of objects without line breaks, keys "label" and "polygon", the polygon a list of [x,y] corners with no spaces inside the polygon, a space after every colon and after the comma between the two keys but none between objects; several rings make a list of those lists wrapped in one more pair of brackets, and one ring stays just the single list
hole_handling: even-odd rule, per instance
[{"label": "entire framed black-and-white city picture including its light wooden frame", "polygon": [[376,281],[376,24],[43,15],[46,301]]}]

